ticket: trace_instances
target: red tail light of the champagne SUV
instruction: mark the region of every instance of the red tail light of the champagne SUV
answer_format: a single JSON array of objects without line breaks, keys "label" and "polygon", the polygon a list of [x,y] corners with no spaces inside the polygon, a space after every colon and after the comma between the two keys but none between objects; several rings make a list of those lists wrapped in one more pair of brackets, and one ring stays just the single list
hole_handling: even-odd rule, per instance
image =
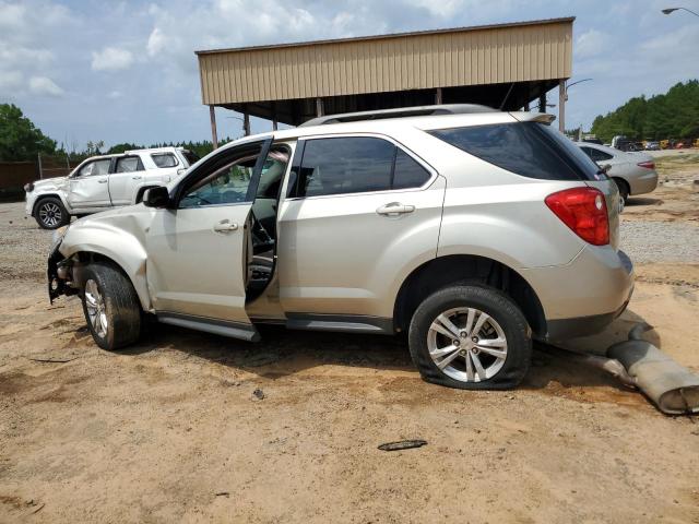
[{"label": "red tail light of the champagne SUV", "polygon": [[609,218],[602,191],[572,188],[546,196],[546,205],[576,235],[593,246],[609,243]]}]

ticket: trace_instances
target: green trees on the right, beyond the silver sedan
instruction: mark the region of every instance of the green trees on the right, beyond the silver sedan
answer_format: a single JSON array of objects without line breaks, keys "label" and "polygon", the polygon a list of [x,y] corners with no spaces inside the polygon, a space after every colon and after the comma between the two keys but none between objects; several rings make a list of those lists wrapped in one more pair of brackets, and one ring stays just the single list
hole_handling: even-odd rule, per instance
[{"label": "green trees on the right, beyond the silver sedan", "polygon": [[633,97],[595,118],[592,132],[603,142],[617,134],[637,141],[699,138],[699,81],[679,82],[663,95]]}]

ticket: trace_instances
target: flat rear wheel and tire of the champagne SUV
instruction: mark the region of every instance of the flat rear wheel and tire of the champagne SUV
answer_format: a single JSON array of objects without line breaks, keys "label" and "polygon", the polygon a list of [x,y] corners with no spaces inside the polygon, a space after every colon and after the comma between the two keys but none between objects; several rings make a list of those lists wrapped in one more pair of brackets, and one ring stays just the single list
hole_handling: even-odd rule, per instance
[{"label": "flat rear wheel and tire of the champagne SUV", "polygon": [[408,344],[425,381],[464,390],[514,388],[532,356],[522,311],[503,293],[482,286],[430,295],[413,315]]}]

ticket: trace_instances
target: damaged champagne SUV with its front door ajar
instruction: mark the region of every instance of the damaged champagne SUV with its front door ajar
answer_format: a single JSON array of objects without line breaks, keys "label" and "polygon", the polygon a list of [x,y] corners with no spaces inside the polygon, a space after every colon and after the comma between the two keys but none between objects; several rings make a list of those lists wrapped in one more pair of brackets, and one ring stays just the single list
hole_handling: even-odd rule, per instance
[{"label": "damaged champagne SUV with its front door ajar", "polygon": [[425,380],[514,386],[532,337],[602,330],[633,284],[617,189],[552,118],[435,106],[239,140],[57,233],[49,294],[80,295],[105,349],[145,315],[406,333]]}]

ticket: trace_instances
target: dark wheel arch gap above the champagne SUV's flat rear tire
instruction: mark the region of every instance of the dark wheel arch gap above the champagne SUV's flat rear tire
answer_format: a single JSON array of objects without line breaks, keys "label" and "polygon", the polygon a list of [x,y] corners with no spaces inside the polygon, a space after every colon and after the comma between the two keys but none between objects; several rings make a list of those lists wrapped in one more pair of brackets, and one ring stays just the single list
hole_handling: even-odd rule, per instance
[{"label": "dark wheel arch gap above the champagne SUV's flat rear tire", "polygon": [[522,310],[533,333],[537,336],[546,334],[544,308],[531,284],[509,265],[475,254],[438,257],[414,269],[395,297],[395,329],[406,331],[413,313],[425,298],[457,283],[477,283],[506,293]]}]

